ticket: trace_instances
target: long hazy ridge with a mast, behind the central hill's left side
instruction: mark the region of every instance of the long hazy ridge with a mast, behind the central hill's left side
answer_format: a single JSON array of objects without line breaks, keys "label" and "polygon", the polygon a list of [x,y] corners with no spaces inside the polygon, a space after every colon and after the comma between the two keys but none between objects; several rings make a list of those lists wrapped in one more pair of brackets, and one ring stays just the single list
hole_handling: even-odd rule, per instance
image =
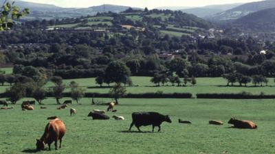
[{"label": "long hazy ridge with a mast, behind the central hill's left side", "polygon": [[[10,0],[12,1],[12,0]],[[95,15],[98,12],[123,12],[130,8],[129,6],[122,5],[98,5],[89,8],[61,8],[56,5],[49,5],[43,3],[32,3],[28,1],[15,1],[14,5],[20,8],[30,8],[30,14],[24,17],[25,20],[34,19],[52,19],[52,18],[77,18],[80,16]],[[141,8],[133,8],[142,10]]]}]

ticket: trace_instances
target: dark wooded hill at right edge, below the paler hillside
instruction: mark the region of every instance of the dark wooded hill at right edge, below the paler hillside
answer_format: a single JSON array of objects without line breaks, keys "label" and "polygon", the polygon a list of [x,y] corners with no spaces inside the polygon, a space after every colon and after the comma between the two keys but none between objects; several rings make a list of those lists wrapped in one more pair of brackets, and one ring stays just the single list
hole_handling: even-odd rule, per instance
[{"label": "dark wooded hill at right edge, below the paler hillside", "polygon": [[263,31],[275,29],[275,8],[270,8],[266,10],[261,10],[259,12],[254,12],[243,16],[236,21],[235,24],[249,28],[249,29],[258,29]]}]

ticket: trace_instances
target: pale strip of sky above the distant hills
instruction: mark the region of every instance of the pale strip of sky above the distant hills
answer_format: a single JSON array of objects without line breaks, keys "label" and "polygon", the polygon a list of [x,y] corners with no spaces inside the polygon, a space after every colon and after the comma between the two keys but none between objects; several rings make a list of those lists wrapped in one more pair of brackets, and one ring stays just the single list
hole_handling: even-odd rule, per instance
[{"label": "pale strip of sky above the distant hills", "polygon": [[[137,8],[149,9],[164,6],[186,6],[201,7],[205,5],[225,4],[225,3],[248,3],[257,0],[23,0],[36,3],[47,3],[61,6],[63,8],[88,8],[94,5],[113,4],[125,5]],[[259,1],[259,0],[258,0]]]}]

